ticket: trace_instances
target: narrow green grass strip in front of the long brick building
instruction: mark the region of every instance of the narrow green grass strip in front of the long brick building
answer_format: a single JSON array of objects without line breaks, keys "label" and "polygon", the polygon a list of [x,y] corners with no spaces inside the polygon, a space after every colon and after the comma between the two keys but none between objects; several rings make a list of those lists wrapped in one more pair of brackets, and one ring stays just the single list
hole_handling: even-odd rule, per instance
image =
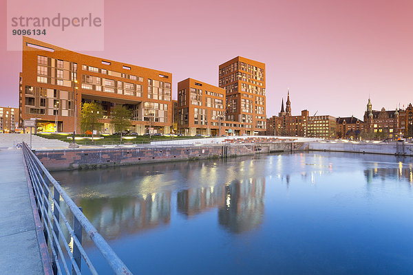
[{"label": "narrow green grass strip in front of the long brick building", "polygon": [[[61,140],[63,142],[71,143],[72,134],[63,133],[38,133],[39,137],[45,137],[50,140]],[[67,138],[70,137],[70,138]],[[122,144],[133,143],[142,144],[149,143],[156,140],[182,140],[189,138],[202,138],[202,137],[184,137],[184,136],[164,136],[164,135],[152,135],[149,139],[149,135],[125,135],[122,139]],[[120,144],[120,135],[94,135],[94,141],[92,142],[92,135],[76,135],[77,144]]]}]

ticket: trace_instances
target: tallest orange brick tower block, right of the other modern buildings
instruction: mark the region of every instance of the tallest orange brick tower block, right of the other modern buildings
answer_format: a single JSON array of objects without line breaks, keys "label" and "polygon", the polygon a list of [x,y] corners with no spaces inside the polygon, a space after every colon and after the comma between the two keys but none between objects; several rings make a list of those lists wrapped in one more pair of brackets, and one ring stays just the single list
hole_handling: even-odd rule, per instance
[{"label": "tallest orange brick tower block, right of the other modern buildings", "polygon": [[237,56],[219,66],[226,91],[226,120],[241,122],[240,135],[266,131],[265,64]]}]

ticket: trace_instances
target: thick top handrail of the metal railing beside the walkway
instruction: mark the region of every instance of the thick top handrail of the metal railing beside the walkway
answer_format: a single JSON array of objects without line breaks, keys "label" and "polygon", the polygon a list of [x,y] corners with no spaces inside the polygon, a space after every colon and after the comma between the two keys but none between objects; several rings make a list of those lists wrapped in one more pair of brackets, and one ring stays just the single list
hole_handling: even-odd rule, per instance
[{"label": "thick top handrail of the metal railing beside the walkway", "polygon": [[101,236],[94,225],[90,223],[90,221],[87,219],[85,214],[76,206],[76,203],[70,198],[69,195],[63,190],[61,185],[59,184],[52,175],[50,175],[49,171],[43,166],[43,164],[40,162],[40,160],[34,155],[32,150],[29,148],[28,144],[23,142],[23,152],[25,153],[25,156],[27,155],[30,157],[32,161],[35,162],[36,166],[41,168],[41,173],[45,177],[47,177],[47,180],[53,185],[55,190],[59,192],[59,195],[62,197],[63,201],[65,201],[67,207],[70,209],[70,211],[73,213],[74,217],[78,220],[78,222],[81,224],[83,230],[87,233],[87,236],[89,236],[90,239],[94,242],[96,245],[96,248],[98,248],[99,252],[103,255],[103,257],[106,259],[107,263],[109,266],[112,268],[112,270],[115,272],[115,274],[132,274],[129,269],[126,267],[125,263],[123,263],[122,260],[118,257],[118,255],[112,250],[110,245],[105,241],[103,236]]}]

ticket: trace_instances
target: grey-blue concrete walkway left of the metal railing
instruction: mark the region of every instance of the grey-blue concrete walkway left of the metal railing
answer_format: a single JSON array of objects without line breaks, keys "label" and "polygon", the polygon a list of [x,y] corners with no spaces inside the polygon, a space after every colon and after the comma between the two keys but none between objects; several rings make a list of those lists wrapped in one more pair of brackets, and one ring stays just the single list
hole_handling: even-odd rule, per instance
[{"label": "grey-blue concrete walkway left of the metal railing", "polygon": [[23,151],[0,151],[0,274],[45,274]]}]

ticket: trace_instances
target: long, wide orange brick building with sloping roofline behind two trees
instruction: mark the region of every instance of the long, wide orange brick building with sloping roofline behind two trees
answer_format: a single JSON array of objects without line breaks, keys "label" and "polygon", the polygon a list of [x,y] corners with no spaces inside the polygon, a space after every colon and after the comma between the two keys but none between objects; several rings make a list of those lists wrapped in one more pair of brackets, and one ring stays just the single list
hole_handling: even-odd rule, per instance
[{"label": "long, wide orange brick building with sloping roofline behind two trees", "polygon": [[[23,37],[20,122],[36,119],[37,131],[80,132],[81,104],[103,107],[103,133],[112,133],[111,111],[131,109],[138,134],[169,133],[172,74],[87,56]],[[75,127],[76,125],[76,127]]]}]

